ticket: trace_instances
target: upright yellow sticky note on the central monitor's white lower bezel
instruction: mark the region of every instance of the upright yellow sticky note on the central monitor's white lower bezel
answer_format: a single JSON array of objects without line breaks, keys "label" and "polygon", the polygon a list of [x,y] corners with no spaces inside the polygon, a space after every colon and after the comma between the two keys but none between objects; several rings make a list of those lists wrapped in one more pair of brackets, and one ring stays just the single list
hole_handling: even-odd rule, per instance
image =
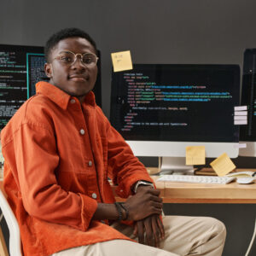
[{"label": "upright yellow sticky note on the central monitor's white lower bezel", "polygon": [[205,146],[189,146],[186,147],[186,165],[205,165],[206,164],[206,148]]}]

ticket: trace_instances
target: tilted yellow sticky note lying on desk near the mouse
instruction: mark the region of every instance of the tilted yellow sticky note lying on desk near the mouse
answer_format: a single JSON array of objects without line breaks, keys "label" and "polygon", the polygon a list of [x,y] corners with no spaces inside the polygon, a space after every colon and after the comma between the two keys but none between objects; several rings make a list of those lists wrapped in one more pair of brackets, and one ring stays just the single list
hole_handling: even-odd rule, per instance
[{"label": "tilted yellow sticky note lying on desk near the mouse", "polygon": [[216,160],[213,160],[210,165],[212,166],[212,169],[218,174],[218,176],[224,176],[236,169],[236,166],[226,153],[220,155]]}]

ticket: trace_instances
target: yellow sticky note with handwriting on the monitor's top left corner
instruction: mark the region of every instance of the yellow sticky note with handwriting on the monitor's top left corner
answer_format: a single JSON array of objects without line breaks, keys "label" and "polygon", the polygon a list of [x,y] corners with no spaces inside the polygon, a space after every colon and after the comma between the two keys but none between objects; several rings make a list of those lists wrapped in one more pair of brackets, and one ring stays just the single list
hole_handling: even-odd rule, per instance
[{"label": "yellow sticky note with handwriting on the monitor's top left corner", "polygon": [[132,69],[130,50],[114,52],[111,54],[113,62],[113,72]]}]

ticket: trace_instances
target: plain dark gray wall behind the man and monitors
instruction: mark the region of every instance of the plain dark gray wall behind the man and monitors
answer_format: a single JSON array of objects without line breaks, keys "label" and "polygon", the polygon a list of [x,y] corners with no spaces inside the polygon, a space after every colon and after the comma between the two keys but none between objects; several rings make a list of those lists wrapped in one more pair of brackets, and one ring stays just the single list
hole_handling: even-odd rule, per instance
[{"label": "plain dark gray wall behind the man and monitors", "polygon": [[[109,116],[111,52],[131,49],[134,63],[242,67],[244,49],[256,48],[255,10],[255,0],[0,0],[0,44],[42,46],[70,26],[89,32],[102,51],[102,108]],[[256,161],[238,158],[236,165],[256,167]],[[166,211],[222,219],[229,231],[225,256],[245,253],[256,212],[253,205],[175,205]],[[237,225],[239,219],[244,225]]]}]

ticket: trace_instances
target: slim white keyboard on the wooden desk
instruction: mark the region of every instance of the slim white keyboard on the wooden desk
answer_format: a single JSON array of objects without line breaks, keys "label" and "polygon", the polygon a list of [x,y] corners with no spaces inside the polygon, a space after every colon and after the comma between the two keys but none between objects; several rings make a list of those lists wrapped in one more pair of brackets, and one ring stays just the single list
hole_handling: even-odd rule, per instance
[{"label": "slim white keyboard on the wooden desk", "polygon": [[236,177],[218,176],[194,176],[194,175],[163,175],[157,181],[171,183],[206,183],[206,184],[227,184],[235,180]]}]

